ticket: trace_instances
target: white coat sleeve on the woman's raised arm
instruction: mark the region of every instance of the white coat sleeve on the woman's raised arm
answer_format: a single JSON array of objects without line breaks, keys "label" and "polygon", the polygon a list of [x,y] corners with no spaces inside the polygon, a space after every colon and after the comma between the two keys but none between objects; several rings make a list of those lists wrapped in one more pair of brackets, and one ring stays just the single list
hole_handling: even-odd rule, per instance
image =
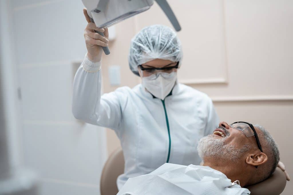
[{"label": "white coat sleeve on the woman's raised arm", "polygon": [[73,82],[72,113],[76,119],[117,130],[121,121],[119,92],[101,96],[101,62],[84,58]]}]

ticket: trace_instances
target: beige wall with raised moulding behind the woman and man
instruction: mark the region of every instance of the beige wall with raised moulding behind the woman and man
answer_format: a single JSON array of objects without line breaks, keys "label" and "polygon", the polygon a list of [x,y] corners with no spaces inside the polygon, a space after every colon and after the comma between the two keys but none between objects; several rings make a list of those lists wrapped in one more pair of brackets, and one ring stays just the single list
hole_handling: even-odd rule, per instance
[{"label": "beige wall with raised moulding behind the woman and man", "polygon": [[[183,65],[180,82],[207,93],[220,120],[259,123],[280,147],[281,160],[293,177],[293,1],[291,0],[185,0],[168,1],[182,31]],[[103,58],[104,92],[116,89],[108,80],[108,65],[121,66],[121,86],[135,86],[127,55],[130,40],[142,27],[171,26],[160,8],[115,25],[111,55]],[[107,131],[108,151],[120,147]],[[283,194],[291,194],[287,182]]]}]

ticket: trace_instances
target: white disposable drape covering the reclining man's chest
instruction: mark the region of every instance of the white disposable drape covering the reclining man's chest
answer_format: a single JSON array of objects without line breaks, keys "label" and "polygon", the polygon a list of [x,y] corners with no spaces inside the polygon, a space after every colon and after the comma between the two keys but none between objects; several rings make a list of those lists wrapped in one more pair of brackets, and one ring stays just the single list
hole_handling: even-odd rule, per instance
[{"label": "white disposable drape covering the reclining man's chest", "polygon": [[165,163],[153,172],[130,178],[117,195],[244,195],[250,194],[218,170],[208,166]]}]

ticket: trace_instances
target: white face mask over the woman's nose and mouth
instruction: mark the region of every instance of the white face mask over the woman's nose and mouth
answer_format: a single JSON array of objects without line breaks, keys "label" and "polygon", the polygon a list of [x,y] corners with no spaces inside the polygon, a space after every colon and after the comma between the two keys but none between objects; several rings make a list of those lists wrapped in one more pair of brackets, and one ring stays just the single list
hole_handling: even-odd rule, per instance
[{"label": "white face mask over the woman's nose and mouth", "polygon": [[155,75],[149,77],[142,77],[142,86],[145,87],[155,97],[164,100],[171,92],[176,82],[177,72],[159,73],[158,77],[154,79]]}]

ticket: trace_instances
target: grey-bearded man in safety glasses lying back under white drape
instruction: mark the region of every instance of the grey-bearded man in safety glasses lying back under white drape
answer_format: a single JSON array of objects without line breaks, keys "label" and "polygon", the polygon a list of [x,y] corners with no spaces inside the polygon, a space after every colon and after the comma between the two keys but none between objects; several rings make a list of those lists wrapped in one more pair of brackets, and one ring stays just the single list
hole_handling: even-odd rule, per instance
[{"label": "grey-bearded man in safety glasses lying back under white drape", "polygon": [[199,140],[197,150],[203,166],[165,163],[128,179],[118,195],[250,194],[243,187],[270,177],[280,160],[268,131],[247,122],[220,122],[213,134]]}]

